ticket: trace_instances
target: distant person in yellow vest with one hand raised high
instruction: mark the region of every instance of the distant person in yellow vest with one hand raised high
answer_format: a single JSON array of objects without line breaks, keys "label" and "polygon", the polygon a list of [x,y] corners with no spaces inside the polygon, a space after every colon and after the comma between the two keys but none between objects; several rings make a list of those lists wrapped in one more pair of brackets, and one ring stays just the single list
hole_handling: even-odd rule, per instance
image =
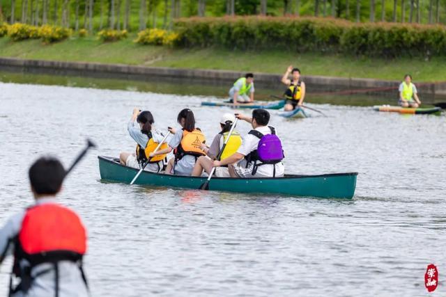
[{"label": "distant person in yellow vest with one hand raised high", "polygon": [[[291,79],[289,79],[290,74]],[[305,99],[305,83],[300,81],[299,68],[290,65],[282,77],[282,83],[288,86],[284,93],[286,98],[284,110],[293,111],[297,106],[302,106]]]}]

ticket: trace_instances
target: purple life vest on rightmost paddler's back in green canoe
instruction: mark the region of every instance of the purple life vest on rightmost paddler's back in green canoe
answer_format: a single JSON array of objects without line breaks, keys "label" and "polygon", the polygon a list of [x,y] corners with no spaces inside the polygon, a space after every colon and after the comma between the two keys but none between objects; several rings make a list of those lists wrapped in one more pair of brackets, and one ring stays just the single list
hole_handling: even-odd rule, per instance
[{"label": "purple life vest on rightmost paddler's back in green canoe", "polygon": [[275,129],[270,126],[268,126],[268,128],[270,128],[271,134],[263,135],[256,130],[249,131],[249,134],[260,138],[257,150],[250,154],[251,156],[248,160],[254,161],[255,166],[261,165],[256,164],[256,161],[260,161],[263,164],[276,164],[284,159],[282,142],[279,137],[277,137]]}]

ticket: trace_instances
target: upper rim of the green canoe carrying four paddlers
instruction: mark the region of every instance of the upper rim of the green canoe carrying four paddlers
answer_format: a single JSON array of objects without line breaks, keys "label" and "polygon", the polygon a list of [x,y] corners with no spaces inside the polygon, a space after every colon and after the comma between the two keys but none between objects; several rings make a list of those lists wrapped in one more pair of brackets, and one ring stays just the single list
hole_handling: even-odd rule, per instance
[{"label": "upper rim of the green canoe carrying four paddlers", "polygon": [[[139,170],[137,168],[132,168],[128,166],[124,166],[121,163],[118,163],[114,161],[114,158],[111,156],[98,156],[98,159],[107,161],[108,163],[113,163],[116,166],[121,166],[123,168],[127,168],[130,170],[134,170],[134,172],[138,172]],[[203,179],[203,177],[191,177],[187,175],[167,175],[165,173],[159,173],[159,172],[151,172],[151,171],[144,171],[144,174],[148,175],[159,175],[159,176],[167,176],[167,177],[174,177],[174,178],[185,178],[185,179]],[[313,177],[339,177],[339,176],[356,176],[358,175],[357,172],[342,172],[342,173],[326,173],[321,175],[297,175],[297,174],[290,174],[290,175],[284,175],[284,177],[261,177],[261,178],[249,178],[249,180],[270,180],[270,179],[305,179],[305,178],[313,178]],[[219,179],[219,180],[225,180],[225,179],[231,179],[231,180],[246,180],[246,178],[237,178],[237,177],[213,177],[213,179]]]}]

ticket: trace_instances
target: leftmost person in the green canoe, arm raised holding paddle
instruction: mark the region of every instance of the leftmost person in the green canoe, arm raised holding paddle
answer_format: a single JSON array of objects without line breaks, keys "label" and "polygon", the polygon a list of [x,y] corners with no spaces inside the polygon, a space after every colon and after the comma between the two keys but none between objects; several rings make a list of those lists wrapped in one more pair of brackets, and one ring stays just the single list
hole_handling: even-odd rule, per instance
[{"label": "leftmost person in the green canoe, arm raised holding paddle", "polygon": [[[150,111],[141,112],[139,109],[133,109],[132,118],[128,122],[127,130],[130,137],[137,143],[137,150],[135,153],[121,152],[119,154],[121,164],[137,169],[144,166],[149,154],[163,141],[162,133],[153,127],[154,123],[155,120],[153,120],[153,115]],[[166,148],[167,143],[162,143],[160,150]],[[160,172],[164,167],[165,158],[166,154],[157,155],[156,158],[150,159],[144,170]]]}]

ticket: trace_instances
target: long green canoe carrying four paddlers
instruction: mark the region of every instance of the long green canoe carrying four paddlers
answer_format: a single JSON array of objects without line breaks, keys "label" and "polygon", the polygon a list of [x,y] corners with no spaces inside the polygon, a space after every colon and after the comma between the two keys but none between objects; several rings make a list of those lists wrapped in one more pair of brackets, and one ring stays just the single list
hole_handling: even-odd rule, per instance
[{"label": "long green canoe carrying four paddlers", "polygon": [[[118,160],[98,156],[101,179],[130,184],[138,170],[123,166]],[[355,193],[357,172],[328,175],[286,175],[262,179],[214,177],[210,180],[211,191],[262,193],[317,198],[351,199]],[[144,171],[135,184],[142,186],[167,186],[198,189],[206,177],[183,177]]]}]

